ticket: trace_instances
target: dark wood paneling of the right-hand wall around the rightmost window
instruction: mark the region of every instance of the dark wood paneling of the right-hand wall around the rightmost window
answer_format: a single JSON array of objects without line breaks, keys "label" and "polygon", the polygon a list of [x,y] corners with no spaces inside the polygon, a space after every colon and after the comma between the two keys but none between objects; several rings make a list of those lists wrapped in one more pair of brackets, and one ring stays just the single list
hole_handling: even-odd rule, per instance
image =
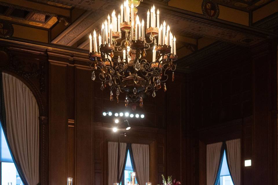
[{"label": "dark wood paneling of the right-hand wall around the rightmost window", "polygon": [[[191,73],[186,183],[206,184],[207,144],[235,138],[241,138],[242,183],[277,183],[276,57],[277,43],[268,41]],[[247,159],[252,166],[244,167]]]}]

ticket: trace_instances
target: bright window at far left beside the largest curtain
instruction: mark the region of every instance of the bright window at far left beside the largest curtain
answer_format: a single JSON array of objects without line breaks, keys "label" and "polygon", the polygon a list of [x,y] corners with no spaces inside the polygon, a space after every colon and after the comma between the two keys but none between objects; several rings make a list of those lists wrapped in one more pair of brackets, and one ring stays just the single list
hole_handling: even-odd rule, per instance
[{"label": "bright window at far left beside the largest curtain", "polygon": [[2,126],[0,126],[0,172],[1,172],[1,185],[6,184],[16,184],[23,185],[17,169],[12,160],[12,156],[10,150],[8,148],[8,144],[6,138],[4,136],[4,132]]}]

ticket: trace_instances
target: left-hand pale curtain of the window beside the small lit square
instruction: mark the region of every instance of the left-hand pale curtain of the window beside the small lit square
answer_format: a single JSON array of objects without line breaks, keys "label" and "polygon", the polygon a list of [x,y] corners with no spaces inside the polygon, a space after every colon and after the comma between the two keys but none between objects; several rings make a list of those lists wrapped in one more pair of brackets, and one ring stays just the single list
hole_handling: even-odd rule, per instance
[{"label": "left-hand pale curtain of the window beside the small lit square", "polygon": [[206,145],[206,184],[214,185],[219,168],[222,143]]}]

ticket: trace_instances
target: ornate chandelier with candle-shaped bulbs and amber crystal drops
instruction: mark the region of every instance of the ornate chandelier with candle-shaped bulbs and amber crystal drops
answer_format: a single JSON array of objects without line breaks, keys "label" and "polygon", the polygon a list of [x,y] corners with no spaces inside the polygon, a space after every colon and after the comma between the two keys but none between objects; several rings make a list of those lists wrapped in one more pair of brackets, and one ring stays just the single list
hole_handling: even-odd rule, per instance
[{"label": "ornate chandelier with candle-shaped bulbs and amber crystal drops", "polygon": [[[108,14],[98,43],[96,30],[93,38],[91,34],[89,36],[92,80],[96,78],[95,70],[100,69],[101,90],[108,84],[110,100],[113,101],[113,92],[116,91],[117,103],[120,93],[125,93],[125,106],[131,104],[133,110],[137,105],[142,108],[143,98],[147,95],[155,97],[162,86],[166,92],[167,71],[173,72],[174,81],[174,62],[178,59],[176,38],[165,21],[160,24],[159,10],[156,11],[154,5],[151,13],[147,12],[147,28],[144,19],[140,22],[136,8],[140,1],[124,1],[118,18],[115,10],[111,17]],[[151,61],[146,59],[147,52],[152,53]]]}]

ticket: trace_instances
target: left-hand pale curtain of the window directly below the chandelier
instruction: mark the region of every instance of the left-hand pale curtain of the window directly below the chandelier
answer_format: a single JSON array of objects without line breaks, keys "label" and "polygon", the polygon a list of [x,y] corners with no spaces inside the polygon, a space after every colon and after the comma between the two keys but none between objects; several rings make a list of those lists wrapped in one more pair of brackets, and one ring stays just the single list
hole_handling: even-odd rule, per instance
[{"label": "left-hand pale curtain of the window directly below the chandelier", "polygon": [[[127,144],[120,143],[120,172],[122,171],[125,153],[126,153]],[[108,142],[108,184],[112,185],[113,183],[118,182],[118,143],[117,142]],[[119,176],[121,174],[119,173]]]}]

